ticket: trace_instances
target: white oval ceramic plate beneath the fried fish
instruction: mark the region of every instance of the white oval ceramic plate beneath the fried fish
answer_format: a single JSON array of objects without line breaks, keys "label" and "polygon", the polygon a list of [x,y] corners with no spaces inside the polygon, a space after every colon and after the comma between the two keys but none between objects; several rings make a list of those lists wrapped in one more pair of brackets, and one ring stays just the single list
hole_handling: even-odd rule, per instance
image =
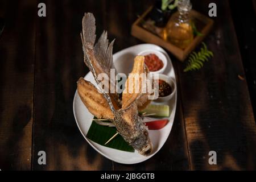
[{"label": "white oval ceramic plate beneath the fried fish", "polygon": [[[138,55],[139,52],[142,52],[146,49],[155,49],[163,52],[164,55],[166,55],[168,59],[168,65],[163,74],[172,77],[176,82],[174,67],[172,66],[170,57],[168,56],[166,51],[164,51],[164,49],[154,44],[139,44],[137,46],[129,47],[115,53],[113,55],[113,61],[114,61],[115,68],[117,69],[117,72],[125,73],[126,75],[130,73],[133,68],[134,57]],[[91,72],[89,72],[84,78],[85,80],[88,80],[93,84],[96,84]],[[75,115],[77,126],[79,127],[79,130],[81,131],[85,140],[97,152],[99,152],[101,155],[117,163],[136,164],[151,158],[156,154],[156,152],[158,152],[163,147],[163,144],[166,142],[171,132],[172,125],[174,123],[176,101],[177,101],[177,92],[175,93],[175,97],[173,97],[170,101],[167,101],[166,103],[161,103],[161,104],[168,104],[170,106],[170,117],[167,118],[169,119],[169,122],[165,127],[163,127],[163,129],[149,131],[150,139],[154,146],[152,154],[150,156],[140,155],[137,151],[133,153],[133,152],[115,150],[109,147],[101,146],[100,144],[97,144],[92,140],[86,138],[86,134],[88,133],[88,130],[92,123],[93,115],[90,114],[89,111],[86,109],[86,107],[80,100],[80,97],[77,94],[77,91],[75,93],[75,97],[73,101],[73,113]],[[159,104],[159,103],[153,102],[152,104]],[[157,119],[145,118],[144,121],[150,121],[150,120],[157,120]]]}]

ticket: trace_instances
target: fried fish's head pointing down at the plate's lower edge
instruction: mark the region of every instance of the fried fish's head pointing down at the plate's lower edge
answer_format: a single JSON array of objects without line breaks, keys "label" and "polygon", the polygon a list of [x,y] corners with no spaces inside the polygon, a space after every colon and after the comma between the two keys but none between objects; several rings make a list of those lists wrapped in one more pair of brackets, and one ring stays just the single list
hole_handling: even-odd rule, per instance
[{"label": "fried fish's head pointing down at the plate's lower edge", "polygon": [[137,105],[132,104],[126,109],[119,109],[114,115],[114,125],[123,139],[139,154],[150,155],[153,148],[152,143],[147,127],[138,114]]}]

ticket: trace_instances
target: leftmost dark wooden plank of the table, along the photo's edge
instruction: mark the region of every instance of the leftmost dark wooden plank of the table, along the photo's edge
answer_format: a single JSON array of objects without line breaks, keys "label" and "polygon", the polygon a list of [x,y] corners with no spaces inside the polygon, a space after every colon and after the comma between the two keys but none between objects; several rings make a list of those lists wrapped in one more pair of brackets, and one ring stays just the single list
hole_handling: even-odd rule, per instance
[{"label": "leftmost dark wooden plank of the table, along the photo's edge", "polygon": [[36,2],[0,1],[0,169],[31,169]]}]

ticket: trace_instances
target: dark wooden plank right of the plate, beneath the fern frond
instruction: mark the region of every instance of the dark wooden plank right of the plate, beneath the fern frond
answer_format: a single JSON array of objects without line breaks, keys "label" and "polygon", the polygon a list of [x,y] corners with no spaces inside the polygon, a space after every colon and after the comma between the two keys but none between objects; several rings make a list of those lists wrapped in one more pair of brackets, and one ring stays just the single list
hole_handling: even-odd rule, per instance
[{"label": "dark wooden plank right of the plate, beneath the fern frond", "polygon": [[[209,2],[193,1],[207,14]],[[228,1],[215,1],[218,15],[205,40],[214,58],[204,69],[178,67],[191,169],[255,169],[256,127]],[[225,18],[223,18],[225,17]],[[217,152],[209,165],[208,152]]]}]

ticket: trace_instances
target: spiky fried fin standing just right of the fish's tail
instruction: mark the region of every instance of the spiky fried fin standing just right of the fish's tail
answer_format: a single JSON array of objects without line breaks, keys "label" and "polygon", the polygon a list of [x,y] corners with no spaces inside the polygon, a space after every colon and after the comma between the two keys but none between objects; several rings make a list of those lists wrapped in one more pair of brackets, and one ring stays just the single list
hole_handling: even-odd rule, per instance
[{"label": "spiky fried fin standing just right of the fish's tail", "polygon": [[94,46],[94,55],[105,73],[108,73],[108,75],[110,73],[110,69],[114,68],[112,55],[113,44],[114,40],[109,44],[108,32],[103,31],[100,39],[98,39],[98,42]]}]

